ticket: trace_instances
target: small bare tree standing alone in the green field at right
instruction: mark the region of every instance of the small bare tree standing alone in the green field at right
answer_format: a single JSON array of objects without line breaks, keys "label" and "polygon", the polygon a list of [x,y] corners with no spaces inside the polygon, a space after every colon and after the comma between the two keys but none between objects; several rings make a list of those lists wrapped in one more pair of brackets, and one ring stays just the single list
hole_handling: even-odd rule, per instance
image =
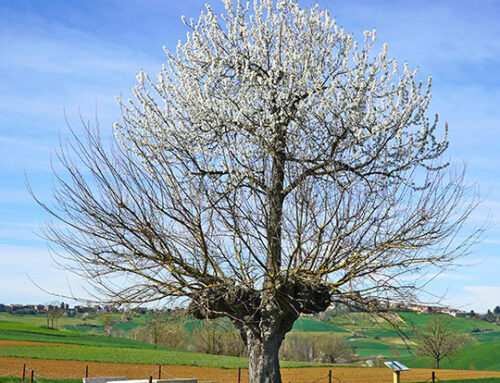
[{"label": "small bare tree standing alone in the green field at right", "polygon": [[424,329],[414,329],[414,332],[417,355],[430,358],[436,369],[444,358],[453,356],[472,342],[472,338],[453,329],[452,318],[443,315],[433,315]]}]

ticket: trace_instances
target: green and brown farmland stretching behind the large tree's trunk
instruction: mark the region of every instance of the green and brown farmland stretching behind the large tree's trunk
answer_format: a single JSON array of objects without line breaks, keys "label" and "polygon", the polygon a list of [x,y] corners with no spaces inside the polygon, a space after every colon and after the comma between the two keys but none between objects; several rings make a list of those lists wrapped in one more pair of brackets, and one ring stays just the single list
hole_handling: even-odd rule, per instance
[{"label": "green and brown farmland stretching behind the large tree's trunk", "polygon": [[[400,330],[406,333],[411,342],[413,336],[411,326],[423,327],[430,318],[430,315],[424,314],[399,313]],[[130,323],[117,323],[113,330],[115,334],[116,330],[120,330],[119,334],[122,337],[107,337],[103,335],[103,326],[97,319],[87,319],[84,322],[85,326],[82,326],[82,318],[61,318],[59,329],[47,329],[43,326],[45,320],[42,316],[1,313],[0,375],[12,371],[10,367],[14,364],[28,361],[32,368],[40,371],[40,376],[54,378],[81,374],[83,366],[87,364],[95,369],[95,373],[98,373],[100,368],[106,371],[110,368],[126,368],[127,374],[132,377],[144,377],[144,374],[150,373],[159,364],[170,372],[175,371],[175,376],[178,377],[185,376],[181,371],[188,371],[196,373],[196,376],[205,376],[206,380],[209,378],[215,380],[231,373],[234,375],[237,368],[243,368],[245,376],[248,365],[246,358],[195,353],[162,345],[158,345],[155,349],[151,343],[123,337],[124,334],[131,334],[134,329],[144,326],[147,319],[148,317],[143,315],[133,318]],[[199,321],[185,322],[189,333],[200,325]],[[477,342],[461,350],[453,359],[442,363],[444,369],[469,371],[440,370],[439,379],[486,377],[500,379],[500,358],[497,357],[500,355],[500,327],[469,318],[456,318],[452,325],[458,332],[471,334]],[[81,328],[85,328],[86,331],[75,331]],[[412,356],[391,325],[374,321],[365,314],[339,315],[331,318],[329,322],[304,317],[295,323],[293,331],[304,335],[335,333],[346,340],[358,359],[375,358],[379,365],[381,358],[398,359],[412,368],[411,373],[406,374],[406,377],[403,376],[403,381],[425,381],[430,376],[430,370],[426,370],[431,367],[429,360]],[[2,367],[1,364],[5,366]],[[362,376],[365,378],[370,376],[373,383],[390,380],[390,371],[387,368],[362,368],[359,362],[358,365],[358,367],[339,367],[294,361],[281,363],[284,380],[291,382],[306,383],[315,379],[321,380],[329,369],[333,369],[337,374],[336,377],[346,383],[362,382]],[[44,371],[47,366],[51,366],[50,371],[58,372],[51,375],[50,371]],[[148,369],[151,371],[147,372]],[[118,370],[116,373],[124,375]],[[125,375],[128,376],[127,374]],[[474,380],[474,383],[500,383],[498,379]],[[0,380],[0,383],[8,381],[4,379]]]}]

